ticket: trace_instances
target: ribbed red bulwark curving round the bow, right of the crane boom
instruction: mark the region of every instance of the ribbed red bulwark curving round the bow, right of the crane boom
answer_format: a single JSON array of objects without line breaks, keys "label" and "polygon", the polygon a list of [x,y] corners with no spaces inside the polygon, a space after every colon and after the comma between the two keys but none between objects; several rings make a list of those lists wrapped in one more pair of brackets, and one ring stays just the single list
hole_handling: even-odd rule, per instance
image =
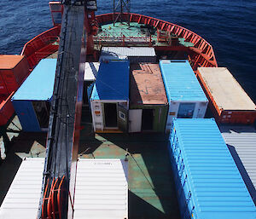
[{"label": "ribbed red bulwark curving round the bow, right of the crane boom", "polygon": [[[177,26],[170,22],[155,19],[142,14],[124,14],[125,20],[130,22],[137,22],[139,24],[154,26],[158,30],[175,34],[177,37],[183,37],[186,42],[193,43],[193,47],[189,47],[191,53],[189,59],[193,63],[193,68],[196,69],[198,66],[218,66],[212,45],[207,43],[205,39],[197,35],[195,32],[191,32],[188,29]],[[113,14],[99,14],[96,15],[96,20],[99,24],[107,24],[113,22]]]}]

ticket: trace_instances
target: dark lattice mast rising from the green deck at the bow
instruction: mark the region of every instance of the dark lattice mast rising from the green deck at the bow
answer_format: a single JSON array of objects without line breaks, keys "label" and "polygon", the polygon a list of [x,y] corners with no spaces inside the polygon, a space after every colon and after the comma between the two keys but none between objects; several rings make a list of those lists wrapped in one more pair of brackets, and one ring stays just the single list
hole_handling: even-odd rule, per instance
[{"label": "dark lattice mast rising from the green deck at the bow", "polygon": [[[113,0],[113,26],[116,22],[127,22],[130,26],[131,0]],[[125,14],[127,18],[125,19]]]}]

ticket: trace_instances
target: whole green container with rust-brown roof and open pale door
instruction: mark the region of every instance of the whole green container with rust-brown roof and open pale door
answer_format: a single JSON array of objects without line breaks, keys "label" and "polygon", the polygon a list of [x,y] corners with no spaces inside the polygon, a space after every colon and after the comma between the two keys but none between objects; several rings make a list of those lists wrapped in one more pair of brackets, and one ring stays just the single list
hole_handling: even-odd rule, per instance
[{"label": "whole green container with rust-brown roof and open pale door", "polygon": [[166,129],[168,101],[158,64],[131,65],[129,132]]}]

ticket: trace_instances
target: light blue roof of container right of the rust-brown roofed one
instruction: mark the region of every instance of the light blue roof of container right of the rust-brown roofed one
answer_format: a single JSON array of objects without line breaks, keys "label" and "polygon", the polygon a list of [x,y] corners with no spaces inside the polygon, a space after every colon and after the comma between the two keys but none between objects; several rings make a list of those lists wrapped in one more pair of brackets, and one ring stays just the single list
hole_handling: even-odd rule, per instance
[{"label": "light blue roof of container right of the rust-brown roofed one", "polygon": [[168,101],[208,101],[189,61],[160,61]]}]

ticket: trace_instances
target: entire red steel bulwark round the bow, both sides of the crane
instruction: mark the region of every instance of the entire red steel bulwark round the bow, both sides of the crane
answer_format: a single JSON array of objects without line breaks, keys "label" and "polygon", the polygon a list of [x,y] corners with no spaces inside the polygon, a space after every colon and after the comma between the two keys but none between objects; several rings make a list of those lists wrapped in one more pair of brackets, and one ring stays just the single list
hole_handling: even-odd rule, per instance
[{"label": "entire red steel bulwark round the bow, both sides of the crane", "polygon": [[[60,11],[56,11],[60,12]],[[55,13],[55,11],[52,11]],[[128,19],[128,14],[124,14],[124,19]],[[91,20],[91,19],[90,19]],[[113,22],[113,13],[96,15],[97,24],[106,24]],[[154,26],[158,30],[175,34],[177,37],[183,37],[185,42],[193,43],[192,47],[184,47],[178,45],[171,46],[155,46],[158,50],[170,50],[170,51],[185,51],[189,54],[189,61],[194,70],[199,66],[218,66],[212,45],[207,43],[205,39],[197,35],[195,32],[191,32],[188,29],[172,24],[164,20],[155,19],[142,14],[131,13],[130,22],[137,22],[139,24]],[[55,23],[54,23],[55,24]],[[94,24],[91,35],[95,35],[96,24]],[[31,68],[38,64],[38,61],[53,54],[58,49],[58,37],[61,31],[61,26],[56,24],[55,27],[49,29],[46,32],[39,34],[37,37],[32,38],[25,44],[21,55],[26,55]],[[90,52],[90,49],[88,49]]]}]

